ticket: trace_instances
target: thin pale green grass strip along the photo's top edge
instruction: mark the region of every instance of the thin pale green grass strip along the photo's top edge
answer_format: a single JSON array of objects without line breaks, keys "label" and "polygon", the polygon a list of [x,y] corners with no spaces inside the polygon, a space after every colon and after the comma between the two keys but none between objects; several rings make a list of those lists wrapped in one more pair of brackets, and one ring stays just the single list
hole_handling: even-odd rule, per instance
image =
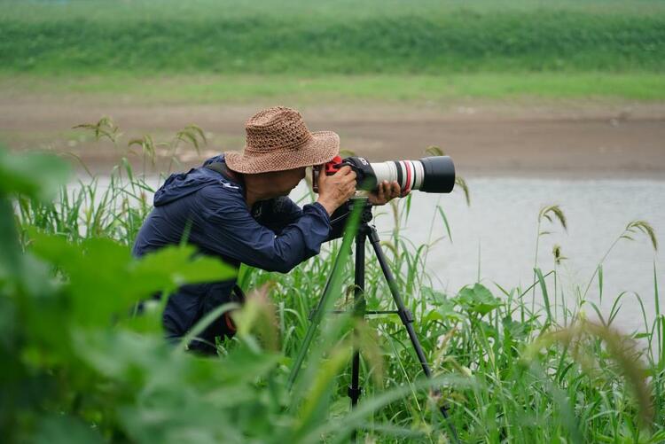
[{"label": "thin pale green grass strip along the photo's top edge", "polygon": [[[367,17],[394,17],[413,15],[426,17],[465,10],[478,13],[573,11],[607,15],[621,13],[644,16],[665,12],[658,0],[560,0],[545,4],[535,0],[422,0],[417,5],[401,0],[332,0],[325,3],[302,2],[301,0],[259,0],[251,4],[238,4],[233,0],[192,0],[183,4],[176,0],[135,0],[130,4],[106,0],[70,0],[67,2],[3,0],[6,6],[3,16],[7,19],[24,19],[31,22],[67,19],[91,19],[95,21],[127,21],[143,19],[209,19],[227,17],[249,19],[252,17],[276,17],[307,19],[313,16],[336,16],[340,19]],[[278,6],[278,7],[277,7]],[[383,6],[380,8],[379,6]],[[117,16],[110,17],[109,12]]]}]

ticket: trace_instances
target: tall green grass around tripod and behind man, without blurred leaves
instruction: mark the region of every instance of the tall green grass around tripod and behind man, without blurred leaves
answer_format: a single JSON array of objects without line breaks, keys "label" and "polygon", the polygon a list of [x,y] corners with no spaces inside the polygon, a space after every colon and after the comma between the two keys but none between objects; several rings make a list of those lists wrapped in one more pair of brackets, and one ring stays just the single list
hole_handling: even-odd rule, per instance
[{"label": "tall green grass around tripod and behind man, without blurred leaves", "polygon": [[[145,190],[145,176],[133,174],[128,165],[114,170],[115,178],[109,191],[101,194],[98,181],[92,178],[82,183],[80,190],[85,191],[75,191],[82,193],[83,198],[76,197],[81,194],[74,194],[72,198],[71,188],[62,188],[59,198],[52,201],[29,196],[20,198],[15,211],[23,245],[34,244],[36,253],[59,264],[66,276],[72,276],[72,282],[77,276],[76,270],[70,262],[56,261],[57,250],[40,247],[44,245],[43,234],[35,233],[33,227],[66,235],[68,243],[59,245],[72,254],[78,248],[76,245],[92,248],[86,243],[95,238],[112,238],[127,251],[127,245],[131,244],[138,225],[150,209],[145,195],[133,191]],[[451,199],[463,198],[453,195]],[[454,221],[446,219],[442,206],[439,209],[441,212],[437,210],[432,226],[440,223],[450,229]],[[74,347],[86,347],[88,351],[82,354],[83,361],[103,369],[106,384],[118,384],[129,378],[130,386],[141,393],[156,386],[163,396],[168,393],[168,399],[173,396],[188,399],[177,384],[164,386],[159,381],[175,384],[176,381],[167,376],[172,372],[176,375],[184,372],[187,378],[198,375],[192,380],[196,380],[202,393],[212,391],[201,396],[206,409],[215,412],[213,422],[220,421],[237,433],[231,435],[231,440],[337,442],[348,438],[353,427],[359,427],[369,440],[380,442],[450,440],[448,428],[438,413],[440,402],[450,407],[450,421],[464,442],[655,443],[665,440],[662,415],[665,408],[665,321],[659,305],[657,263],[654,263],[653,273],[654,306],[642,306],[644,312],[654,311],[655,319],[648,323],[645,316],[639,331],[624,336],[614,330],[613,322],[620,310],[620,300],[625,296],[615,296],[615,307],[605,317],[598,308],[598,301],[591,300],[584,288],[574,289],[575,297],[567,297],[566,290],[555,284],[559,276],[556,265],[563,260],[557,248],[553,251],[553,269],[545,269],[536,261],[534,282],[528,287],[497,285],[488,288],[475,283],[455,294],[440,292],[425,268],[427,254],[440,240],[430,236],[426,244],[412,244],[400,230],[401,224],[410,217],[409,199],[395,204],[393,210],[395,230],[389,239],[384,239],[384,247],[405,303],[416,319],[416,330],[427,361],[434,370],[435,379],[431,383],[424,381],[419,362],[396,315],[372,315],[362,323],[355,323],[351,316],[331,314],[325,315],[314,338],[316,347],[312,347],[301,375],[289,390],[288,375],[301,350],[310,310],[316,306],[326,278],[332,273],[332,258],[340,255],[348,258],[348,246],[342,247],[339,242],[325,245],[321,255],[287,275],[249,268],[239,270],[239,284],[246,290],[262,289],[258,293],[261,297],[254,297],[239,312],[239,336],[218,344],[219,361],[223,365],[207,367],[205,364],[205,368],[194,368],[191,362],[199,362],[198,358],[186,354],[164,357],[167,354],[161,351],[159,339],[148,336],[150,339],[144,342],[140,337],[126,336],[126,332],[122,333],[125,336],[115,339],[83,335]],[[544,207],[538,217],[536,245],[542,241],[544,221],[553,221],[552,218],[566,221],[561,207]],[[631,222],[627,230],[618,239],[628,241],[627,235],[655,239],[646,222]],[[450,230],[446,232],[450,237]],[[610,252],[619,253],[619,244],[613,244],[612,239],[608,241],[612,245]],[[535,249],[542,247],[536,245]],[[653,248],[656,247],[653,242]],[[598,269],[604,260],[601,258]],[[75,263],[82,267],[85,262]],[[334,298],[335,308],[350,310],[354,287],[346,277],[353,276],[351,261],[346,264],[342,261],[341,265],[344,273],[340,276],[344,280]],[[597,281],[601,277],[602,273],[597,273],[590,279]],[[368,254],[365,290],[368,308],[392,308],[387,295],[389,290],[378,264],[372,254]],[[575,302],[568,302],[570,300]],[[541,301],[545,301],[544,305]],[[641,298],[638,301],[643,304]],[[589,307],[598,310],[597,321],[591,321],[585,314],[584,308]],[[44,313],[48,313],[49,308],[44,309]],[[156,331],[159,331],[159,312],[158,307],[154,312],[157,315],[149,316],[157,325],[153,327]],[[128,322],[140,323],[141,319]],[[349,412],[346,391],[350,378],[350,331],[354,325],[362,331],[364,393],[360,408]],[[159,353],[148,352],[150,348]],[[113,358],[109,356],[116,354],[126,363],[112,364]],[[142,354],[152,356],[152,361],[142,360]],[[123,370],[122,365],[126,365],[127,370]],[[135,370],[130,370],[132,368]],[[133,379],[131,371],[139,371],[143,376]],[[249,377],[243,378],[244,373]],[[156,382],[151,382],[153,378],[157,378]],[[434,399],[427,390],[434,385],[442,387],[441,399]],[[222,397],[215,397],[217,394]],[[116,395],[129,396],[125,392]],[[91,402],[84,395],[82,400]],[[203,433],[217,430],[215,425],[207,426],[192,417],[181,417],[174,408],[160,412],[159,424],[164,429],[158,432],[148,417],[136,417],[128,422],[126,415],[114,409],[116,402],[130,412],[152,411],[140,400],[122,404],[120,399],[110,400],[105,409],[94,409],[96,417],[90,417],[90,410],[85,408],[65,411],[80,418],[83,424],[95,424],[102,432],[113,433],[107,435],[112,438],[163,437],[163,433],[173,431],[169,427],[183,421],[192,421]],[[55,411],[59,409],[64,408],[56,403]],[[196,410],[188,407],[182,411],[191,414]],[[255,412],[260,412],[258,417]],[[236,419],[239,425],[231,425]]]}]

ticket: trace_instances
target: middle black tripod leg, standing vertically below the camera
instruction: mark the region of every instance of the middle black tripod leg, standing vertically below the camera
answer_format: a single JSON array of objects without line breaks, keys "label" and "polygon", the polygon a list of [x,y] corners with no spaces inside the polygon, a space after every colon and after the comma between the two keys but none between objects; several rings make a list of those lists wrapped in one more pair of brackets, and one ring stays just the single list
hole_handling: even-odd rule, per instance
[{"label": "middle black tripod leg, standing vertically below the camera", "polygon": [[[354,315],[356,317],[364,316],[364,244],[366,235],[363,228],[356,233],[356,276],[353,300]],[[351,362],[351,385],[348,386],[348,397],[351,398],[351,408],[355,408],[362,391],[360,387],[360,350],[357,346],[357,331],[354,328],[354,346],[353,361]],[[351,434],[351,442],[356,442],[357,431],[354,429]]]}]

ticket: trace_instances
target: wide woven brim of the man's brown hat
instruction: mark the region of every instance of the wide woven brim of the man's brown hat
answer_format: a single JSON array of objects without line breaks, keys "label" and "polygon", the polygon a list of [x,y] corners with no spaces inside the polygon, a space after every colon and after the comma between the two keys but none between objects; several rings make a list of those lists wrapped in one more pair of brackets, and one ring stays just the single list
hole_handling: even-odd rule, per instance
[{"label": "wide woven brim of the man's brown hat", "polygon": [[340,136],[337,133],[314,131],[310,134],[311,140],[297,149],[253,152],[250,155],[245,152],[225,152],[224,160],[233,171],[258,174],[321,165],[339,154]]}]

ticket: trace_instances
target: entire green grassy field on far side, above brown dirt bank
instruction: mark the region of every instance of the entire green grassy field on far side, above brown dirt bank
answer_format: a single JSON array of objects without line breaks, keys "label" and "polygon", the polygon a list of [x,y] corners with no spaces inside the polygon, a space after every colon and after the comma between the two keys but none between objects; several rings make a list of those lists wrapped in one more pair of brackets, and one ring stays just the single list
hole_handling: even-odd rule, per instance
[{"label": "entire green grassy field on far side, above brown dirt bank", "polygon": [[3,96],[665,96],[665,6],[653,0],[1,4]]}]

